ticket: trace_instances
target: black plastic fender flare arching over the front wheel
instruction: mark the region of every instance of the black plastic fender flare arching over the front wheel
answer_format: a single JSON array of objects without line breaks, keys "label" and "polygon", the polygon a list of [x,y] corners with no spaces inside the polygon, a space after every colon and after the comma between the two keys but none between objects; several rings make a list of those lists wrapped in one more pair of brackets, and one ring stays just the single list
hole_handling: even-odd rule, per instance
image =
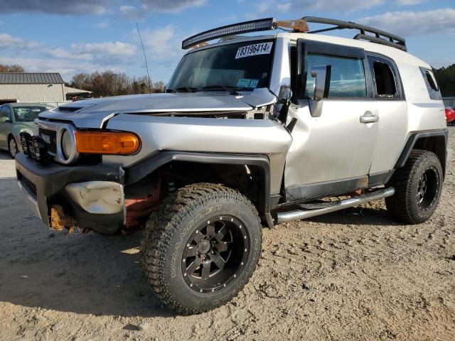
[{"label": "black plastic fender flare arching over the front wheel", "polygon": [[265,155],[255,154],[226,154],[226,153],[193,153],[183,151],[161,151],[134,166],[124,168],[125,185],[132,185],[156,171],[157,168],[172,161],[212,163],[224,165],[257,166],[262,169],[264,193],[260,197],[259,209],[264,213],[270,212],[270,162]]}]

